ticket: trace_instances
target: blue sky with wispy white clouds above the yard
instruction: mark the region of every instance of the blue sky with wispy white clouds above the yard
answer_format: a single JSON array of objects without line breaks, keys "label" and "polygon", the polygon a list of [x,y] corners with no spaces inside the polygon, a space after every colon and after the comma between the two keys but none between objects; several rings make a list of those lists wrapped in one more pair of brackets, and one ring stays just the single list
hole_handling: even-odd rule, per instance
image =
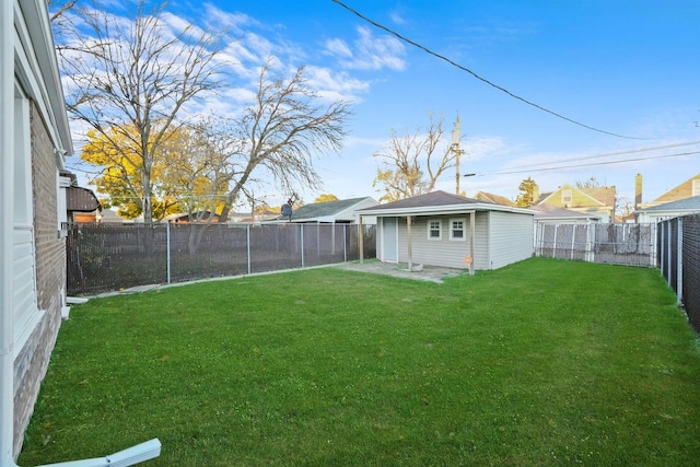
[{"label": "blue sky with wispy white clouds above the yard", "polygon": [[[224,56],[235,79],[197,108],[234,112],[270,56],[289,69],[304,65],[324,98],[352,102],[343,148],[316,154],[324,189],[300,188],[305,202],[320,194],[378,199],[374,154],[388,148],[392,131],[424,129],[431,114],[444,118],[444,147],[460,120],[459,172],[476,174],[460,178],[469,197],[482,190],[515,199],[528,176],[542,192],[593,177],[616,186],[625,202],[639,173],[648,202],[700,173],[700,1],[342,3],[166,7],[172,24],[228,28]],[[122,8],[114,2],[115,14]],[[455,191],[454,170],[436,188]],[[289,194],[268,186],[262,196],[279,206]]]}]

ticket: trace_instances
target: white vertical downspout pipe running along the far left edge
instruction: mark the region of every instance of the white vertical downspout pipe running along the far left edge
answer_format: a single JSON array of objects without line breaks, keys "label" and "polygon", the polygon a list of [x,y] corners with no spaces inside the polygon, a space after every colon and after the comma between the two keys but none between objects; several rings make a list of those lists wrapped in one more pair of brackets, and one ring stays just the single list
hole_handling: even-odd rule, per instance
[{"label": "white vertical downspout pipe running along the far left edge", "polygon": [[14,2],[0,2],[0,466],[14,466],[12,231],[14,191]]}]

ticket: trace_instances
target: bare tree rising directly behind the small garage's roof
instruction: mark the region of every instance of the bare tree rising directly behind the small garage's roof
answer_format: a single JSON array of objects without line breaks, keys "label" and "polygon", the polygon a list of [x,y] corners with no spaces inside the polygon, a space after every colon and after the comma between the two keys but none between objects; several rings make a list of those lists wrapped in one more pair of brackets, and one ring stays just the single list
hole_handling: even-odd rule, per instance
[{"label": "bare tree rising directly behind the small garage's roof", "polygon": [[418,128],[415,133],[399,136],[392,130],[388,148],[374,154],[380,162],[373,186],[384,187],[380,201],[396,201],[430,192],[435,189],[442,173],[455,166],[456,153],[451,147],[436,154],[444,132],[444,118],[434,120],[432,114],[429,118],[424,132]]}]

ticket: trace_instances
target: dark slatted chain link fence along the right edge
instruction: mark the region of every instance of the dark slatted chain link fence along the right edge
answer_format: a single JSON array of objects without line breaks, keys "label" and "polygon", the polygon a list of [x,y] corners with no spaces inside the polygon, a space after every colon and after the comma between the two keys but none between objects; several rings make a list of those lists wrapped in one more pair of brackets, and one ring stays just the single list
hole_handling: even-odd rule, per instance
[{"label": "dark slatted chain link fence along the right edge", "polygon": [[700,214],[662,221],[656,236],[662,275],[700,332]]}]

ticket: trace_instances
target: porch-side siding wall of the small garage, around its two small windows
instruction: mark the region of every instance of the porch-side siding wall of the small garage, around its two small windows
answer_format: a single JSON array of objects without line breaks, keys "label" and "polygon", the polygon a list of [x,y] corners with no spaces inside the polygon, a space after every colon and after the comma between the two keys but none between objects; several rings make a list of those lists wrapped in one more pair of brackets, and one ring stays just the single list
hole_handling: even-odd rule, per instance
[{"label": "porch-side siding wall of the small garage, around its two small windows", "polygon": [[[478,217],[477,217],[478,218]],[[465,220],[465,240],[450,240],[450,220]],[[428,222],[440,220],[442,222],[442,238],[428,240]],[[456,269],[467,269],[464,261],[469,256],[469,214],[418,217],[411,220],[411,260],[415,265],[442,266]],[[408,229],[406,218],[398,223],[398,260],[408,262]],[[478,243],[475,243],[478,246]],[[475,252],[475,256],[482,252]],[[478,267],[477,264],[475,266]]]}]

